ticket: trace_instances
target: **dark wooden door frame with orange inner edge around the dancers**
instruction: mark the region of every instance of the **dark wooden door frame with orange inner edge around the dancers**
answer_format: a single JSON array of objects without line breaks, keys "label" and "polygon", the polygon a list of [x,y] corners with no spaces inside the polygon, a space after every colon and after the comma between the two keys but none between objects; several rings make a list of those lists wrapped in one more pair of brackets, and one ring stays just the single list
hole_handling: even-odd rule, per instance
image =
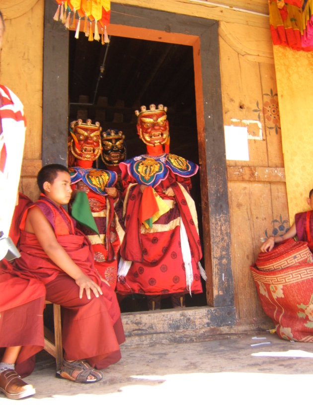
[{"label": "dark wooden door frame with orange inner edge around the dancers", "polygon": [[[52,3],[45,1],[42,160],[66,165],[69,37]],[[108,33],[193,47],[207,301],[234,307],[218,22],[112,3]]]}]

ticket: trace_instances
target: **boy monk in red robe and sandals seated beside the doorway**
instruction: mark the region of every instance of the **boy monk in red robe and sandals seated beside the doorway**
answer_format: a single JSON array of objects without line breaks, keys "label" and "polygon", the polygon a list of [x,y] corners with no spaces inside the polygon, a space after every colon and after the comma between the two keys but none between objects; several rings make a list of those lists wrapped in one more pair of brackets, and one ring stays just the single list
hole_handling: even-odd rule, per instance
[{"label": "boy monk in red robe and sandals seated beside the doorway", "polygon": [[37,183],[40,198],[22,218],[15,268],[40,279],[46,299],[63,307],[64,361],[57,376],[96,382],[102,379],[96,369],[118,361],[125,341],[116,295],[99,276],[88,240],[62,207],[72,194],[68,169],[46,165]]}]

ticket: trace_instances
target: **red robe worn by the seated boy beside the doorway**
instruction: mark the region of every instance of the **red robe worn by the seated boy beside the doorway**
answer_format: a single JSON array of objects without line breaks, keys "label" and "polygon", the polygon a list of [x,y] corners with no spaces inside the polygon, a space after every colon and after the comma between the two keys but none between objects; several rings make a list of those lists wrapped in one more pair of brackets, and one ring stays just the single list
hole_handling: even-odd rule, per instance
[{"label": "red robe worn by the seated boy beside the doorway", "polygon": [[116,295],[109,285],[100,280],[91,245],[75,229],[69,214],[44,195],[35,206],[47,217],[59,244],[83,273],[101,287],[103,295],[97,298],[91,291],[91,299],[88,300],[84,291],[79,298],[75,280],[50,260],[35,234],[24,231],[26,215],[21,222],[22,256],[16,259],[15,267],[37,277],[45,284],[46,299],[62,306],[65,359],[86,359],[93,367],[105,368],[120,359],[119,345],[125,341]]}]

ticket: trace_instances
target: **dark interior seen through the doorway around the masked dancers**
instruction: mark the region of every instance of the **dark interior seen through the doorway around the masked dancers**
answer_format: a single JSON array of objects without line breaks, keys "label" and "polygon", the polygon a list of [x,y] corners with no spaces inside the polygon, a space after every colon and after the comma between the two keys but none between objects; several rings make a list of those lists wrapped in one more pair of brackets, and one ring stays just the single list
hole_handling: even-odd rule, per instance
[{"label": "dark interior seen through the doorway around the masked dancers", "polygon": [[[199,163],[192,47],[112,36],[110,43],[88,42],[70,32],[69,122],[98,121],[102,131],[123,131],[127,157],[146,153],[137,135],[135,110],[154,103],[168,108],[170,152]],[[202,241],[199,174],[192,177]],[[206,305],[204,293],[187,296],[186,306]],[[166,299],[162,308],[169,308]],[[141,297],[128,297],[122,311],[146,310]]]}]

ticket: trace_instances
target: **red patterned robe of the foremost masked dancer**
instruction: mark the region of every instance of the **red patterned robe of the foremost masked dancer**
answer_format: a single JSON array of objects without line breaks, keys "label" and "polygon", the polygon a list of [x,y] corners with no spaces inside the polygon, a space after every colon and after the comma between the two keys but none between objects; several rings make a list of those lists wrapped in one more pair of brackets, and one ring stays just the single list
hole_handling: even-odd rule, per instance
[{"label": "red patterned robe of the foremost masked dancer", "polygon": [[[168,154],[156,157],[157,163],[162,165],[161,158]],[[173,155],[175,156],[175,155]],[[142,155],[147,158],[147,155]],[[148,156],[149,157],[149,156]],[[198,262],[202,257],[198,234],[198,223],[195,204],[189,194],[191,186],[190,176],[185,177],[172,172],[165,164],[162,172],[163,180],[153,185],[154,191],[170,208],[153,222],[151,228],[146,228],[139,220],[142,211],[147,211],[149,200],[145,200],[140,191],[139,176],[132,175],[130,163],[137,160],[128,160],[120,164],[122,182],[125,188],[124,213],[125,236],[120,249],[121,258],[131,261],[131,267],[126,276],[119,274],[116,290],[122,295],[141,293],[146,295],[173,294],[173,293],[201,293],[202,284]],[[185,160],[186,161],[186,160]],[[189,161],[187,161],[189,162]],[[164,193],[171,187],[174,197]],[[148,210],[149,211],[149,210]],[[144,217],[146,218],[146,217]],[[191,266],[193,280],[191,287],[186,284],[185,264],[182,256],[180,224],[183,221],[188,236],[191,252]]]}]

